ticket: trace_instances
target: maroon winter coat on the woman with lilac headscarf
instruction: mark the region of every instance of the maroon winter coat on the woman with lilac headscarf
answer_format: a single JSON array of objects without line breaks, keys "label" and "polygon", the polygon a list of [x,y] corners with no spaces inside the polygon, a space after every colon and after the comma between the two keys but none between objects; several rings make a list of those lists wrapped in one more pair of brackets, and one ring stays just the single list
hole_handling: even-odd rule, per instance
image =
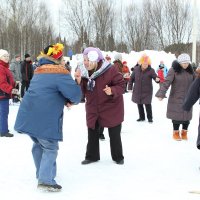
[{"label": "maroon winter coat on the woman with lilac headscarf", "polygon": [[[95,128],[98,120],[101,127],[114,127],[124,121],[123,93],[125,82],[116,67],[110,67],[95,79],[93,91],[87,90],[87,79],[82,79],[82,91],[86,97],[86,120],[88,128]],[[112,95],[107,95],[103,89],[111,87]]]}]

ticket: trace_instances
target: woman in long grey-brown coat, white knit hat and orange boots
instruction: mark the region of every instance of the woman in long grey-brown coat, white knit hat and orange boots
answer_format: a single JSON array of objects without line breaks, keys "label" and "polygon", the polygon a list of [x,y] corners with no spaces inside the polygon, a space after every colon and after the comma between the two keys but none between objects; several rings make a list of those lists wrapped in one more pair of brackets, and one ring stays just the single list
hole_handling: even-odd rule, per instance
[{"label": "woman in long grey-brown coat, white knit hat and orange boots", "polygon": [[[162,100],[169,87],[171,91],[167,104],[167,118],[172,120],[173,124],[173,139],[187,140],[187,130],[192,118],[192,110],[186,112],[183,110],[183,102],[187,91],[194,80],[194,72],[190,64],[190,56],[181,54],[178,59],[172,63],[167,77],[161,88],[156,93],[156,97]],[[179,127],[182,124],[181,136]]]}]

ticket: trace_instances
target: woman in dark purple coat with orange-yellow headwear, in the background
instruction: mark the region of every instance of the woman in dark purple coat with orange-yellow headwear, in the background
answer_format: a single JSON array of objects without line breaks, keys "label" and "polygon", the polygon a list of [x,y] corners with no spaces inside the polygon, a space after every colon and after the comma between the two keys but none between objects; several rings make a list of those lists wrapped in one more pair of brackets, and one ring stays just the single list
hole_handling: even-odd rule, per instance
[{"label": "woman in dark purple coat with orange-yellow headwear, in the background", "polygon": [[153,122],[152,115],[152,95],[153,95],[153,84],[152,79],[156,82],[159,82],[159,78],[157,77],[155,70],[151,68],[151,61],[147,55],[143,55],[140,58],[139,65],[134,67],[134,71],[131,74],[128,89],[132,90],[133,83],[133,94],[132,101],[137,103],[138,111],[139,111],[139,119],[138,122],[145,120],[144,107],[145,105],[147,118],[149,123]]}]

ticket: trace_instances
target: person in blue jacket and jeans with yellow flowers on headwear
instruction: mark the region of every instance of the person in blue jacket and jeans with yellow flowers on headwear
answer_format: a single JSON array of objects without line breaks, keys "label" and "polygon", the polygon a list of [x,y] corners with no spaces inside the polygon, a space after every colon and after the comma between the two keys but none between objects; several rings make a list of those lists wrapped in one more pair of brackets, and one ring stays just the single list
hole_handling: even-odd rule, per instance
[{"label": "person in blue jacket and jeans with yellow flowers on headwear", "polygon": [[63,45],[46,47],[38,57],[34,71],[15,121],[15,130],[33,140],[32,155],[36,167],[38,188],[60,191],[55,181],[58,142],[63,140],[63,108],[78,104],[80,86],[61,64]]}]

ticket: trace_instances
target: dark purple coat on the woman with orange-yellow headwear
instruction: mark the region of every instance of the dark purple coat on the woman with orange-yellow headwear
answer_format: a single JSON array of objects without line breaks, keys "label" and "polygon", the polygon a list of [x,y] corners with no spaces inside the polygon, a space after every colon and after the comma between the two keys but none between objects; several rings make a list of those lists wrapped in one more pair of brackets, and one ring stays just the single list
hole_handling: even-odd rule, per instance
[{"label": "dark purple coat on the woman with orange-yellow headwear", "polygon": [[151,104],[153,95],[153,83],[152,79],[156,79],[157,74],[155,70],[148,66],[148,68],[142,71],[141,66],[135,66],[134,71],[131,74],[128,89],[132,90],[132,101],[137,104]]}]

